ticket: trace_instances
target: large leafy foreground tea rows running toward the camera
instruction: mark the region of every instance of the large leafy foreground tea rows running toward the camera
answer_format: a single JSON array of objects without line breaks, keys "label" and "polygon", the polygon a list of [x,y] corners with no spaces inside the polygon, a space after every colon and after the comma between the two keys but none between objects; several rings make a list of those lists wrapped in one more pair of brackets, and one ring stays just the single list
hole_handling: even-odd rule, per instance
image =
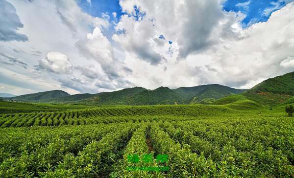
[{"label": "large leafy foreground tea rows running toward the camera", "polygon": [[[293,177],[293,153],[294,122],[286,117],[0,129],[0,177]],[[168,160],[156,161],[163,154]]]}]

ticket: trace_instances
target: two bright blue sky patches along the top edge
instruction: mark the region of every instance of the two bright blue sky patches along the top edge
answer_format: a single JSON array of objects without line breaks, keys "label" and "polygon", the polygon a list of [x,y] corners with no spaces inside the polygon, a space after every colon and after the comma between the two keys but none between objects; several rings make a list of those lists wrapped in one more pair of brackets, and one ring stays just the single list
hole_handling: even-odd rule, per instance
[{"label": "two bright blue sky patches along the top edge", "polygon": [[[246,18],[243,20],[243,27],[247,27],[252,23],[266,22],[272,12],[281,9],[291,1],[293,0],[227,0],[223,4],[223,10],[244,13]],[[92,0],[91,4],[88,0],[80,0],[78,4],[94,17],[102,17],[103,13],[108,14],[110,21],[117,22],[124,14],[119,0]],[[117,19],[113,17],[113,12],[116,12]]]}]

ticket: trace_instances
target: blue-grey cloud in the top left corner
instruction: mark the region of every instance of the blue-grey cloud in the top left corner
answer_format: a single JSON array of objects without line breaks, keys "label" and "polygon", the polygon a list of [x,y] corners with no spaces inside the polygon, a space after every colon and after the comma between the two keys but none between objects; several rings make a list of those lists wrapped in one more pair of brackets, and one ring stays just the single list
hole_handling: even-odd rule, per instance
[{"label": "blue-grey cloud in the top left corner", "polygon": [[28,40],[27,36],[18,32],[24,24],[20,21],[15,7],[6,0],[0,0],[0,41],[21,41]]}]

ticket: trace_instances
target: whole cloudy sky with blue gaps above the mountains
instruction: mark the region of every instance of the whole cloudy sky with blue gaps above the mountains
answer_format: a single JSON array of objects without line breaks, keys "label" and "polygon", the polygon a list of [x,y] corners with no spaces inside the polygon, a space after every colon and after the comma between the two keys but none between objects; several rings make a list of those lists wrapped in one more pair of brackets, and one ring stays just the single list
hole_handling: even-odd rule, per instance
[{"label": "whole cloudy sky with blue gaps above the mountains", "polygon": [[294,0],[0,0],[0,93],[249,89],[294,71]]}]

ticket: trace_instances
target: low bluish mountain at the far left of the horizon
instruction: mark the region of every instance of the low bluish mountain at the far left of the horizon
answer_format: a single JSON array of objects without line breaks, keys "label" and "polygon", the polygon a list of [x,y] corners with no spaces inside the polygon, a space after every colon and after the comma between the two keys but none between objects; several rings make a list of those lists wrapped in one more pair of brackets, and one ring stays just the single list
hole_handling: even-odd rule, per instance
[{"label": "low bluish mountain at the far left of the horizon", "polygon": [[10,99],[17,101],[43,101],[52,98],[60,98],[64,96],[70,96],[70,94],[62,90],[52,90],[32,94],[24,94],[20,96],[11,97]]}]

